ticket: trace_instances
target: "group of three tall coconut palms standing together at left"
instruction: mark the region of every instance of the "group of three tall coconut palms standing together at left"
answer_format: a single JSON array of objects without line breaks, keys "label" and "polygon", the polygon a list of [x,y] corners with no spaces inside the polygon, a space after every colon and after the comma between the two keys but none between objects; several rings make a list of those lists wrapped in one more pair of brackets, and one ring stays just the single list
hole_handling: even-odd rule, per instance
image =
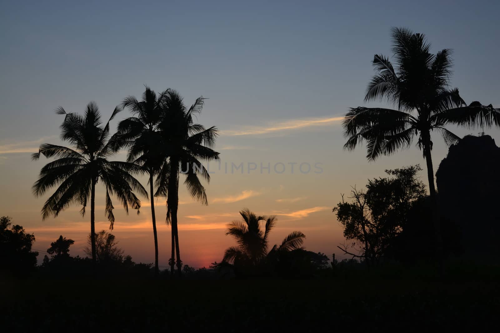
[{"label": "group of three tall coconut palms standing together at left", "polygon": [[[44,143],[38,153],[32,155],[34,160],[40,154],[57,158],[41,169],[33,185],[35,196],[57,187],[43,205],[42,218],[56,217],[70,204],[81,205],[80,213],[84,216],[90,200],[91,256],[95,263],[95,185],[98,181],[106,190],[105,215],[110,229],[114,223],[112,195],[118,198],[127,213],[132,208],[137,210],[137,214],[140,200],[135,193],[146,198],[149,196],[157,273],[158,240],[153,197],[165,197],[166,222],[171,225],[172,231],[170,272],[173,274],[176,264],[180,274],[182,262],[177,227],[179,165],[188,165],[187,171],[182,170],[182,173],[191,197],[206,205],[205,189],[199,178],[209,182],[210,176],[201,163],[219,158],[219,153],[211,148],[217,129],[205,128],[193,121],[193,116],[200,113],[203,102],[204,98],[199,97],[187,108],[177,91],[167,89],[157,95],[146,86],[140,101],[133,96],[126,97],[113,110],[104,126],[101,126],[100,112],[93,102],[87,105],[83,116],[68,113],[61,107],[56,109],[57,114],[65,115],[60,126],[60,138],[71,148]],[[121,120],[117,132],[110,135],[109,121],[124,108],[128,108],[132,116]],[[125,162],[108,160],[121,149],[127,149]],[[149,194],[134,178],[144,173],[148,175]]]}]

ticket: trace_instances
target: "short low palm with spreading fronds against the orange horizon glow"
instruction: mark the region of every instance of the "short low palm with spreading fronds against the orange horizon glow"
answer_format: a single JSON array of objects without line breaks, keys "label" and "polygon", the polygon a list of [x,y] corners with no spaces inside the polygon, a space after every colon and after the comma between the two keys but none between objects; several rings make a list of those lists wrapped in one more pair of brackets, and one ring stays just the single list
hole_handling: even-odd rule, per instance
[{"label": "short low palm with spreading fronds against the orange horizon glow", "polygon": [[[234,238],[237,246],[225,250],[222,262],[256,269],[270,253],[296,250],[302,246],[305,235],[300,231],[294,231],[286,236],[279,246],[274,245],[267,252],[269,233],[276,224],[276,217],[257,216],[248,208],[244,208],[239,214],[242,220],[227,224],[226,232],[226,235]],[[261,221],[265,222],[263,230],[260,229]]]}]

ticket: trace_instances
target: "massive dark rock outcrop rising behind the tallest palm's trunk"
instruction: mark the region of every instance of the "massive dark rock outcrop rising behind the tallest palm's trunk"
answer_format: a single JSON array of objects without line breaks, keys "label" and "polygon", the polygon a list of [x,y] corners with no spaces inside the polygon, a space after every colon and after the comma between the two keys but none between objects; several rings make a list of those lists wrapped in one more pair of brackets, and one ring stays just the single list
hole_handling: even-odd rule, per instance
[{"label": "massive dark rock outcrop rising behind the tallest palm's trunk", "polygon": [[449,147],[436,184],[443,215],[459,230],[461,254],[498,261],[500,148],[489,135],[467,135]]}]

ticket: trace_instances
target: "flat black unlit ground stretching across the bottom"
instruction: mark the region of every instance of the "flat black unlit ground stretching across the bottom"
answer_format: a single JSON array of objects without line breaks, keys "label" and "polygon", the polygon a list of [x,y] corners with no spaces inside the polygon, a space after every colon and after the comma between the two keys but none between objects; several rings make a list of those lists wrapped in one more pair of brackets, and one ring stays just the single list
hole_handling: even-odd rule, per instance
[{"label": "flat black unlit ground stretching across the bottom", "polygon": [[498,279],[484,277],[2,285],[2,332],[478,331],[500,315]]}]

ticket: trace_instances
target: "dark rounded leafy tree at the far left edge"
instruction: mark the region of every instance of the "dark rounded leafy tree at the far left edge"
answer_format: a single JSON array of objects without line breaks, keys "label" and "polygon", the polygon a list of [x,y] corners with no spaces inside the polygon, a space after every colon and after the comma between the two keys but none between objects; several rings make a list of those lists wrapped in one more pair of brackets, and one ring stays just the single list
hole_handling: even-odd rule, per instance
[{"label": "dark rounded leafy tree at the far left edge", "polygon": [[38,252],[31,251],[35,239],[10,221],[8,216],[0,218],[0,271],[25,277],[36,268]]}]

